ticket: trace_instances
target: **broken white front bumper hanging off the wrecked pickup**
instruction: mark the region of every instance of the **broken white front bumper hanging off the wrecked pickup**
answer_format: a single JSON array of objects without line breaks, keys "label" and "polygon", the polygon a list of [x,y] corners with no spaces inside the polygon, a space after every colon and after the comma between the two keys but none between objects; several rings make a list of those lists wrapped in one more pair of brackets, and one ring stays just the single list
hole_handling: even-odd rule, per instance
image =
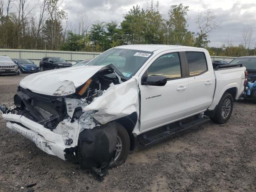
[{"label": "broken white front bumper hanging off the wrecked pickup", "polygon": [[[60,122],[60,126],[56,131],[48,130],[43,125],[38,124],[25,116],[16,114],[2,114],[7,120],[6,126],[14,131],[22,134],[26,138],[33,141],[42,151],[57,156],[62,160],[66,160],[64,150],[77,146],[79,126],[70,122]],[[72,144],[65,144],[67,134],[72,136]]]}]

